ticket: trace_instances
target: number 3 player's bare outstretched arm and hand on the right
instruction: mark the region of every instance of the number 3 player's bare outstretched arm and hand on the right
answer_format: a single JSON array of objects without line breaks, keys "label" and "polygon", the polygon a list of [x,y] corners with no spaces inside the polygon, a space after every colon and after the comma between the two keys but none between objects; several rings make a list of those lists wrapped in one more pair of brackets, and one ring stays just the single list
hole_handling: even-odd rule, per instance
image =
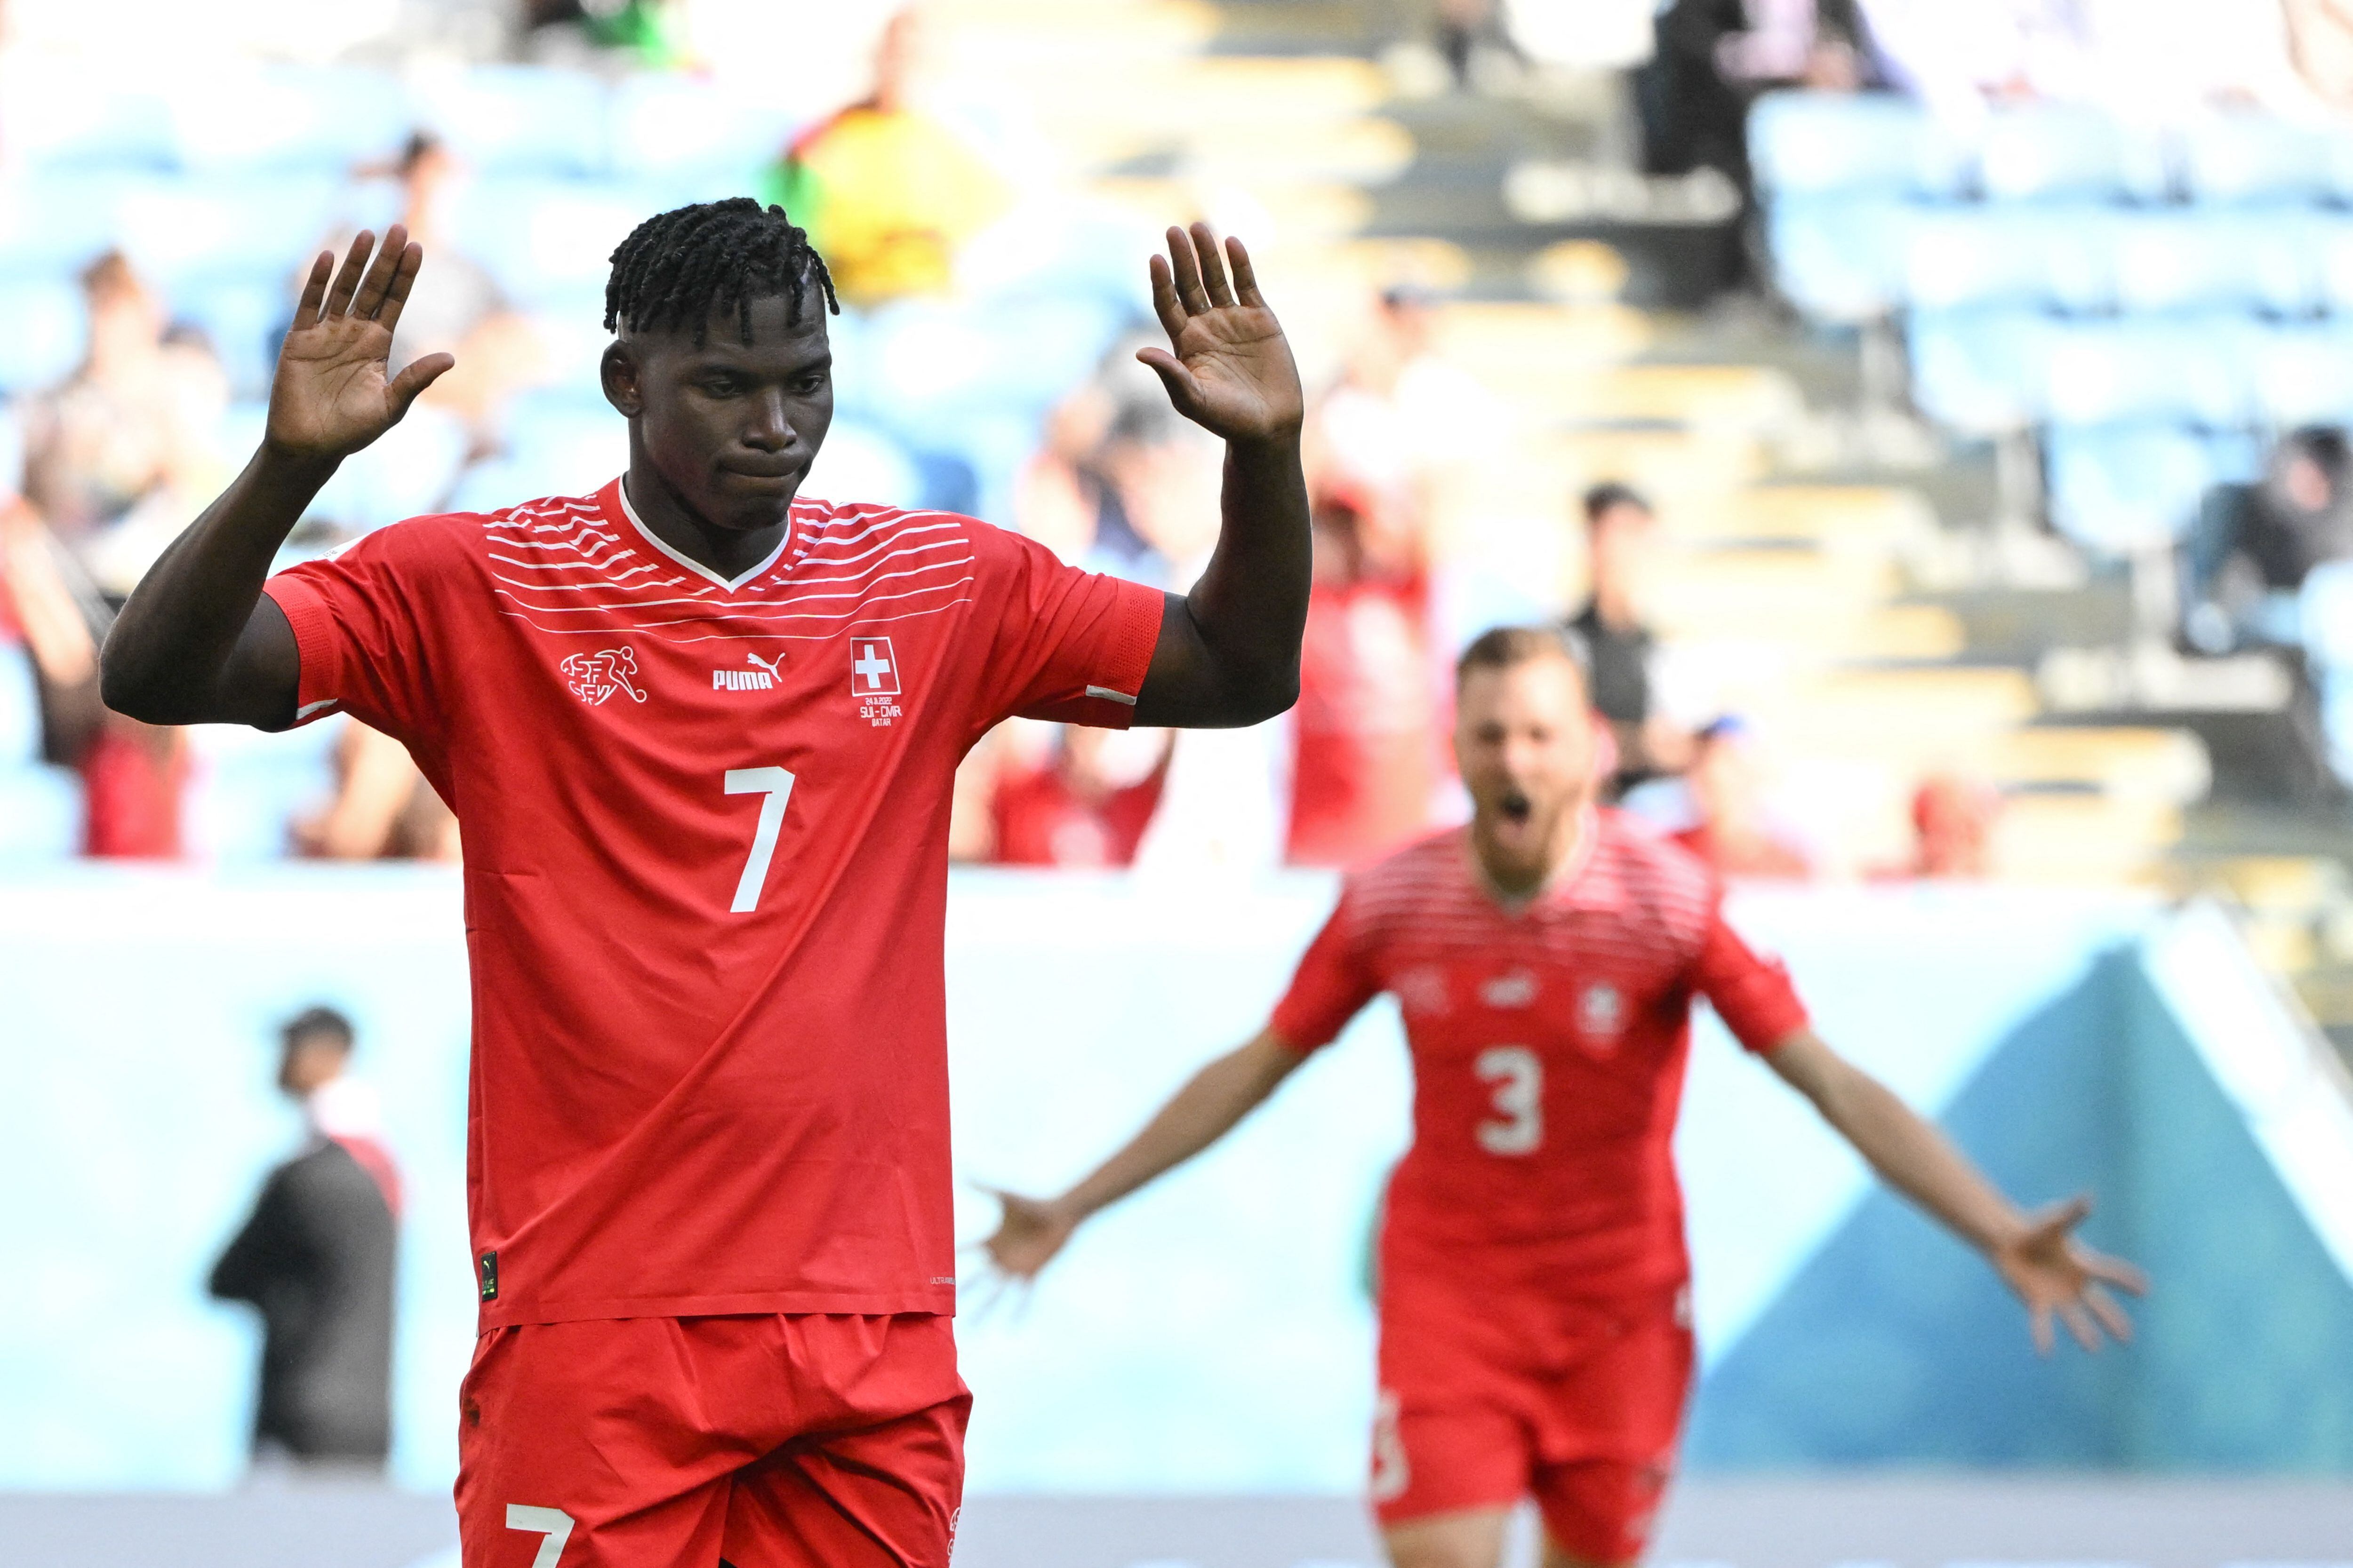
[{"label": "number 3 player's bare outstretched arm and hand on the right", "polygon": [[2052,1314],[2085,1349],[2099,1349],[2099,1331],[2132,1338],[2132,1319],[2108,1286],[2139,1295],[2141,1272],[2118,1258],[2094,1253],[2073,1239],[2092,1213],[2089,1199],[2073,1199],[2035,1215],[2019,1213],[1953,1140],[1913,1112],[1875,1077],[1838,1056],[1812,1030],[1798,1030],[1765,1058],[1821,1119],[1871,1161],[1889,1187],[1944,1220],[1953,1234],[1986,1253],[2019,1300],[2026,1302],[2035,1349],[2052,1347]]}]

